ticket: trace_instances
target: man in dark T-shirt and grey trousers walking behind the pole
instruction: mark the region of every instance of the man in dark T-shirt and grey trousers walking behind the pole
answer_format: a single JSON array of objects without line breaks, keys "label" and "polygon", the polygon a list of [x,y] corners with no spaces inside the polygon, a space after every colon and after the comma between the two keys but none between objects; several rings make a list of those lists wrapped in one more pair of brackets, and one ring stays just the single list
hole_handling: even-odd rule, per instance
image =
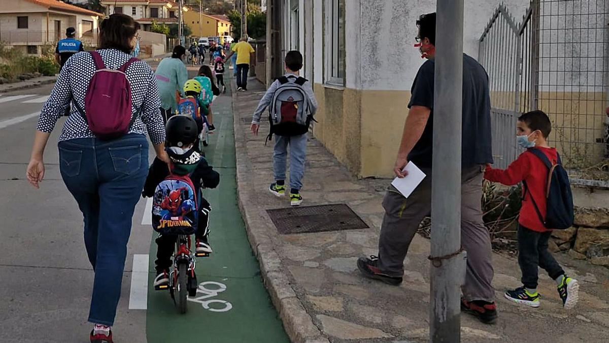
[{"label": "man in dark T-shirt and grey trousers walking behind the pole", "polygon": [[[385,215],[378,258],[360,258],[359,270],[370,278],[398,285],[404,258],[421,220],[431,213],[431,168],[434,116],[435,13],[417,21],[421,55],[426,60],[412,84],[409,113],[393,172],[398,178],[412,161],[427,175],[408,198],[390,186],[383,200]],[[461,244],[467,252],[462,310],[484,323],[495,322],[495,290],[491,286],[491,242],[482,222],[482,166],[493,162],[488,75],[482,65],[463,54]]]}]

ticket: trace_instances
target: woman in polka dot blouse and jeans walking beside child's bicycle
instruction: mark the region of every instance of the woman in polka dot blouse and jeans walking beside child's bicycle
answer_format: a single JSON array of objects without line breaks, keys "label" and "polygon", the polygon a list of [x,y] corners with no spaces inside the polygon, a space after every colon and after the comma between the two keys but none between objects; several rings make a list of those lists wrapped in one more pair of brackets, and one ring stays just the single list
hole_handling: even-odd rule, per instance
[{"label": "woman in polka dot blouse and jeans walking beside child's bicycle", "polygon": [[[146,62],[130,57],[139,24],[130,16],[113,14],[100,29],[99,56],[79,52],[63,66],[41,110],[26,175],[34,187],[40,186],[44,148],[63,109],[72,101],[76,105],[72,106],[74,113],[59,137],[60,172],[83,214],[86,252],[95,273],[88,318],[94,323],[90,339],[93,343],[112,343],[110,327],[121,295],[133,211],[148,172],[146,131],[157,156],[166,162],[169,158],[164,151],[161,101],[154,73]],[[97,70],[96,59],[98,65],[103,63],[107,68],[127,66],[124,73],[131,89],[132,120],[126,134],[111,140],[96,137],[88,124],[94,116],[87,114],[91,112],[85,107],[85,95]]]}]

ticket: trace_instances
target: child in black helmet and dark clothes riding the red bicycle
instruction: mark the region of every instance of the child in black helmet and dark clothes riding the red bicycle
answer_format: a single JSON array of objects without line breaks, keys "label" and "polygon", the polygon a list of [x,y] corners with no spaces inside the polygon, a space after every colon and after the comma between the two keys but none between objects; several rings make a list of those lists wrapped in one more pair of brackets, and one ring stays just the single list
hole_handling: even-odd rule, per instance
[{"label": "child in black helmet and dark clothes riding the red bicycle", "polygon": [[[153,197],[158,184],[171,173],[175,175],[190,175],[194,192],[201,194],[200,189],[216,188],[220,182],[220,175],[209,165],[205,157],[201,156],[195,149],[195,141],[198,137],[197,125],[193,118],[186,115],[174,115],[169,118],[166,130],[166,150],[171,159],[169,167],[165,162],[155,158],[148,170],[148,177],[142,192],[143,197]],[[195,233],[195,252],[197,255],[211,254],[209,245],[209,212],[211,206],[203,197],[199,197],[199,220],[197,232]],[[171,267],[171,256],[174,252],[175,235],[159,235],[157,243],[157,260],[155,269],[157,277],[154,281],[155,289],[169,284],[169,267]]]}]

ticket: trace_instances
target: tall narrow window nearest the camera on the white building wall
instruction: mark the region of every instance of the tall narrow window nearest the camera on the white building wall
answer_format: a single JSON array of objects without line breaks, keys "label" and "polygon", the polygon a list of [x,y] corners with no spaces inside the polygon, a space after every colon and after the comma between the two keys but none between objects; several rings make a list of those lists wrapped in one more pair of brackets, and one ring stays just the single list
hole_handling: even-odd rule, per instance
[{"label": "tall narrow window nearest the camera on the white building wall", "polygon": [[345,84],[345,0],[326,0],[326,83]]}]

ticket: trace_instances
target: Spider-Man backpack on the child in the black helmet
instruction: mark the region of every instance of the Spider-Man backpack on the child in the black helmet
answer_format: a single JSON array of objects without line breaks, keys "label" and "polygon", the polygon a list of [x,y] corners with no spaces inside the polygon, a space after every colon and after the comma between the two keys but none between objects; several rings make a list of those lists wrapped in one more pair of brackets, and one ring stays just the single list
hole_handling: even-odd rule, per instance
[{"label": "Spider-Man backpack on the child in the black helmet", "polygon": [[197,208],[197,195],[189,176],[170,174],[155,189],[152,228],[160,234],[194,234]]}]

